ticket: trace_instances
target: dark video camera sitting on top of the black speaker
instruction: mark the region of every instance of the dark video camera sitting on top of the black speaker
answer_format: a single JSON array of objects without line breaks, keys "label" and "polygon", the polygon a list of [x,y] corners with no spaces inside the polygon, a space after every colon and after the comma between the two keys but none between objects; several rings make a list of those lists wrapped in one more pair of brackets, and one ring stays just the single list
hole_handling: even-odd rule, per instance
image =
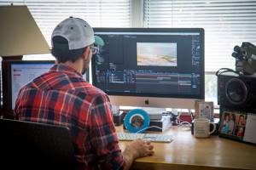
[{"label": "dark video camera sitting on top of the black speaker", "polygon": [[244,75],[253,75],[256,70],[256,47],[251,42],[242,42],[235,46],[232,56],[236,58],[236,71]]}]

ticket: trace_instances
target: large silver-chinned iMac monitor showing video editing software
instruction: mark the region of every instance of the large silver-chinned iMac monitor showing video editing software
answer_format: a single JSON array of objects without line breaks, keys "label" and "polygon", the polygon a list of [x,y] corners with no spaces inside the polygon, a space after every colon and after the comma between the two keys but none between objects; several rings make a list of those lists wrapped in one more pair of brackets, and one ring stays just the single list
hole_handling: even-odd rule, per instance
[{"label": "large silver-chinned iMac monitor showing video editing software", "polygon": [[113,105],[193,109],[204,99],[201,28],[95,28],[92,82]]}]

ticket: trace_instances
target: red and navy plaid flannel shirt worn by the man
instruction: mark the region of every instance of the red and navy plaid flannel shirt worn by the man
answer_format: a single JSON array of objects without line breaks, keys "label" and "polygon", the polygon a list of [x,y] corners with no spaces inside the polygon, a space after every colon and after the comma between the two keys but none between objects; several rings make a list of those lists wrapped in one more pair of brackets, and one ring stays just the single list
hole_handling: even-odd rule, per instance
[{"label": "red and navy plaid flannel shirt worn by the man", "polygon": [[21,88],[15,118],[69,127],[79,169],[124,168],[108,95],[71,67],[54,65]]}]

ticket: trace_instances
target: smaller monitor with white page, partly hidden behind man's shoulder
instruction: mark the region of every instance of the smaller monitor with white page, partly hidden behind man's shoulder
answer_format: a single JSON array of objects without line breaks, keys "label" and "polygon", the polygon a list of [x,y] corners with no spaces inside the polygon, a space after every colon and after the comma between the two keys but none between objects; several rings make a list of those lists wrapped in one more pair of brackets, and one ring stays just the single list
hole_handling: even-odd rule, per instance
[{"label": "smaller monitor with white page, partly hidden behind man's shoulder", "polygon": [[[15,109],[15,101],[22,88],[26,83],[32,81],[34,78],[42,75],[44,72],[55,64],[54,60],[9,60],[8,68],[8,93],[7,105],[9,113],[13,113]],[[89,73],[84,74],[84,79],[89,80]]]}]

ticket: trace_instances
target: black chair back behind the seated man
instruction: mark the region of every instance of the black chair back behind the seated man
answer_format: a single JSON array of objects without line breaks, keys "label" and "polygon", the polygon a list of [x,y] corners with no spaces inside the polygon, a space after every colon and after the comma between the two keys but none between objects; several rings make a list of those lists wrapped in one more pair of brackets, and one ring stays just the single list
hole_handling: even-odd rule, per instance
[{"label": "black chair back behind the seated man", "polygon": [[67,127],[0,119],[1,169],[75,169]]}]

